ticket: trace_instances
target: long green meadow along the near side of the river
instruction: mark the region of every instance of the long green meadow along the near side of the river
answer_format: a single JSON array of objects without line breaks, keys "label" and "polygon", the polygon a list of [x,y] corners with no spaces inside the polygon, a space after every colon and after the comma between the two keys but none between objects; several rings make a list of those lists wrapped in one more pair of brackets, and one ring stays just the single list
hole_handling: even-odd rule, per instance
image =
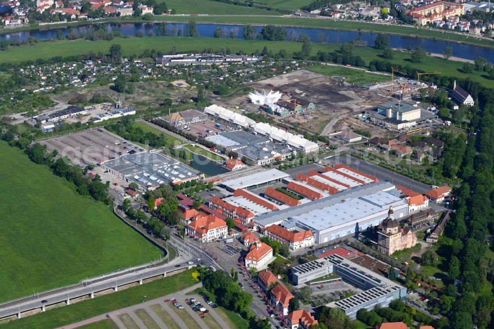
[{"label": "long green meadow along the near side of the river", "polygon": [[[180,51],[201,51],[204,48],[211,47],[213,50],[219,50],[221,47],[228,47],[232,52],[243,50],[245,53],[252,53],[256,49],[261,50],[265,45],[278,52],[281,49],[289,49],[292,52],[301,49],[300,42],[289,41],[246,41],[236,39],[214,39],[214,38],[173,38],[173,37],[153,37],[153,38],[129,38],[117,39],[114,41],[51,41],[40,42],[34,46],[23,45],[10,48],[7,51],[0,52],[0,62],[21,62],[26,60],[36,60],[38,58],[51,58],[61,55],[76,55],[85,53],[89,50],[93,52],[101,51],[108,53],[113,43],[120,43],[123,47],[124,55],[140,54],[145,49],[156,49],[157,51],[168,52],[173,46],[179,45]],[[315,55],[319,50],[334,51],[340,48],[339,44],[334,43],[312,43],[312,54]],[[362,59],[369,63],[373,59],[383,60],[380,57],[381,51],[371,47],[356,47],[355,55],[360,55]],[[471,77],[485,86],[494,87],[494,80],[486,78],[485,73],[474,71],[471,74],[461,72],[462,62],[453,60],[444,60],[436,57],[426,57],[422,63],[412,63],[410,53],[396,52],[395,57],[388,60],[393,64],[410,65],[425,72],[434,72],[439,70],[443,75],[455,76],[458,78]]]}]

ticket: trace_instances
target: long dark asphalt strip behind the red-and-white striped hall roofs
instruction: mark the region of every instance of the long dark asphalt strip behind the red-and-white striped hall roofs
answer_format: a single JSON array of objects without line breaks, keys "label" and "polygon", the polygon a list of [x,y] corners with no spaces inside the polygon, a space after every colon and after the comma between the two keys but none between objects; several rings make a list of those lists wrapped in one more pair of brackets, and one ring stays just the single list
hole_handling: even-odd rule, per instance
[{"label": "long dark asphalt strip behind the red-and-white striped hall roofs", "polygon": [[416,181],[412,178],[406,177],[406,176],[399,174],[397,172],[394,172],[392,170],[380,167],[377,164],[371,164],[369,162],[360,160],[360,159],[355,158],[349,154],[346,154],[344,156],[339,156],[339,157],[328,158],[328,159],[322,160],[322,162],[330,164],[330,165],[347,164],[347,165],[351,166],[352,168],[355,168],[357,170],[361,170],[365,173],[368,173],[368,174],[378,178],[379,180],[388,181],[391,184],[395,184],[395,185],[402,185],[402,186],[405,186],[406,188],[411,189],[411,190],[418,192],[418,193],[424,193],[424,192],[429,191],[431,189],[431,187],[427,184]]}]

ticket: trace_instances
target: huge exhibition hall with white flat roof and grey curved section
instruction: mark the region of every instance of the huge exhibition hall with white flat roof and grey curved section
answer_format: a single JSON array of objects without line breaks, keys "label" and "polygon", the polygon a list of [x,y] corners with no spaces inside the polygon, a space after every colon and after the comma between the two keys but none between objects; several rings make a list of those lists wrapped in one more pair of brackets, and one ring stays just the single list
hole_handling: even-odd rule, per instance
[{"label": "huge exhibition hall with white flat roof and grey curved section", "polygon": [[273,211],[253,219],[260,228],[294,220],[311,230],[316,244],[327,243],[377,226],[392,206],[397,218],[408,215],[408,204],[389,182],[361,185],[299,206]]}]

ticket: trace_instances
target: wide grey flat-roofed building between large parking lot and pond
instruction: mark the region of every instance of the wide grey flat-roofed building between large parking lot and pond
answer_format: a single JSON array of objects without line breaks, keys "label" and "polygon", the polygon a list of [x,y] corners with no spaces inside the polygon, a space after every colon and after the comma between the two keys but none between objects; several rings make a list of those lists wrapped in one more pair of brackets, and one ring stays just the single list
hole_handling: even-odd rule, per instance
[{"label": "wide grey flat-roofed building between large parking lot and pond", "polygon": [[162,184],[204,179],[202,172],[152,151],[126,154],[99,165],[127,183],[137,183],[144,190],[154,190]]}]

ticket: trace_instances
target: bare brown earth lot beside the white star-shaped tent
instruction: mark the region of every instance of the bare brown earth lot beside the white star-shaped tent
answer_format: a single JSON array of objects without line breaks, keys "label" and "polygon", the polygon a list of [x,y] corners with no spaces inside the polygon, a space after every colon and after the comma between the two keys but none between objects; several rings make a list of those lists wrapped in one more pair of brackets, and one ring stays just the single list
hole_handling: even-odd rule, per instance
[{"label": "bare brown earth lot beside the white star-shaped tent", "polygon": [[340,119],[386,101],[367,89],[306,70],[254,82],[251,86],[257,90],[280,90],[312,101],[317,109],[310,114],[312,117],[304,118],[299,115],[290,117],[288,122],[323,134],[334,132],[333,125]]}]

